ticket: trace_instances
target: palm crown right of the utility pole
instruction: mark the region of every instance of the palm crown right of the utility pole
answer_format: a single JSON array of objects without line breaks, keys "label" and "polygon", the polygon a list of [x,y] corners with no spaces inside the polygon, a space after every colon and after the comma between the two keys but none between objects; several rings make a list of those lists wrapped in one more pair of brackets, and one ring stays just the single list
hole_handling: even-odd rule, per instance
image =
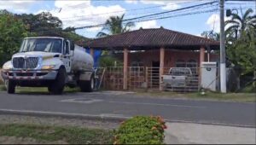
[{"label": "palm crown right of the utility pole", "polygon": [[245,14],[231,14],[231,20],[226,20],[225,25],[228,26],[226,34],[228,38],[240,38],[242,33],[249,34],[251,30],[256,28],[256,15],[251,15],[253,9],[247,9]]}]

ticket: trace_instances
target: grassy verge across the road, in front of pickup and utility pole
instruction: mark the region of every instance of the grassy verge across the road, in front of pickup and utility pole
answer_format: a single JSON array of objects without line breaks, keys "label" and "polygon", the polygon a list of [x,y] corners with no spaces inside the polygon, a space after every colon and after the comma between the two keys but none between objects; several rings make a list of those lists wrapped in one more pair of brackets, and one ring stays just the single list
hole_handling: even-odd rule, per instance
[{"label": "grassy verge across the road, in front of pickup and utility pole", "polygon": [[205,95],[201,95],[199,92],[194,93],[176,93],[168,91],[139,91],[136,93],[138,96],[152,96],[152,97],[168,97],[168,98],[181,98],[192,100],[211,100],[211,101],[225,101],[225,102],[256,102],[256,93],[218,93],[218,92],[206,92]]}]

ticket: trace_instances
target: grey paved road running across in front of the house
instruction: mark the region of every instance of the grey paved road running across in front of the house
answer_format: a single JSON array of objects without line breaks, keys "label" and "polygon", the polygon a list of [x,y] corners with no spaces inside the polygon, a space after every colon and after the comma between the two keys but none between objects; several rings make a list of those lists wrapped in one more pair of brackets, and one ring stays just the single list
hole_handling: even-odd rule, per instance
[{"label": "grey paved road running across in front of the house", "polygon": [[9,95],[0,91],[0,113],[68,113],[102,117],[160,115],[169,121],[256,127],[256,104],[189,101],[124,92]]}]

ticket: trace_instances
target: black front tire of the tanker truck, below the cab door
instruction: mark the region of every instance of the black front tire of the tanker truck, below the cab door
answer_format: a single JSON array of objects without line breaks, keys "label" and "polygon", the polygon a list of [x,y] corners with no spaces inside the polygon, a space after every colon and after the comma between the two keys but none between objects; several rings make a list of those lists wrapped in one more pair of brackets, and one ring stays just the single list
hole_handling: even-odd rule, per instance
[{"label": "black front tire of the tanker truck, below the cab door", "polygon": [[48,91],[50,94],[53,95],[61,95],[63,93],[65,87],[65,80],[66,80],[66,70],[65,68],[60,68],[55,78],[55,81],[49,85]]}]

